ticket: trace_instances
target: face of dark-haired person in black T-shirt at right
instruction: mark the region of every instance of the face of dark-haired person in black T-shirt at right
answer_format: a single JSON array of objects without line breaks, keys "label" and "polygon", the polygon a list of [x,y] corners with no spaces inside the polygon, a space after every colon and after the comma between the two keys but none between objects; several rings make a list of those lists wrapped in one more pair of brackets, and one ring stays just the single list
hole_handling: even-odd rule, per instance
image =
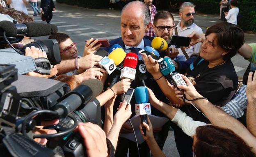
[{"label": "face of dark-haired person in black T-shirt at right", "polygon": [[206,36],[206,40],[201,47],[200,56],[210,62],[220,60],[228,52],[217,45],[217,39],[215,39],[216,33],[210,33]]}]

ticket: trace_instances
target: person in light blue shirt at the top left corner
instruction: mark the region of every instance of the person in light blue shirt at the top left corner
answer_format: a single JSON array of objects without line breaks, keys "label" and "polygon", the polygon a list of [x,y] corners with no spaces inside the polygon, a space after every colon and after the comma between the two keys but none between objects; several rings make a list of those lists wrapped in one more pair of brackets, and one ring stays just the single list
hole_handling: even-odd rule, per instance
[{"label": "person in light blue shirt at the top left corner", "polygon": [[7,4],[18,11],[23,11],[25,14],[28,15],[27,12],[27,4],[29,0],[6,0]]}]

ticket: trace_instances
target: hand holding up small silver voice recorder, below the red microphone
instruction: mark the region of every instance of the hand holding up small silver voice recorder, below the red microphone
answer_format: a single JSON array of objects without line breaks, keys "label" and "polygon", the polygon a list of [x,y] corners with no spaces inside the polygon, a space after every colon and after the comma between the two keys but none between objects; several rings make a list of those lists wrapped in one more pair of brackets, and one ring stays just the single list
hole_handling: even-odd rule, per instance
[{"label": "hand holding up small silver voice recorder, below the red microphone", "polygon": [[130,115],[132,114],[132,109],[130,104],[127,104],[127,102],[124,100],[123,102],[120,102],[117,110],[117,113],[114,115],[114,123],[122,126],[123,123],[126,122],[128,118],[130,118]]}]

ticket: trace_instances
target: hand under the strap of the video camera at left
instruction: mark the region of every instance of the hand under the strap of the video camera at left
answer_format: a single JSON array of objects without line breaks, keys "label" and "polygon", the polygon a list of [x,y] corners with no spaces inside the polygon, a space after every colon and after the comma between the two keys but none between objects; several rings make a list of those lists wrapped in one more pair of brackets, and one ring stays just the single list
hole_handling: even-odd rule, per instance
[{"label": "hand under the strap of the video camera at left", "polygon": [[[40,51],[40,50],[39,50],[38,48],[36,48],[35,46],[31,46],[30,48],[27,47],[27,48],[25,49],[25,55],[26,55],[26,56],[30,56],[30,57],[32,57],[33,59],[39,58],[39,57],[47,58],[46,52]],[[40,74],[40,73],[37,73],[37,72],[34,72],[34,71],[27,73],[27,75],[33,76],[33,77],[48,78],[48,75]]]}]

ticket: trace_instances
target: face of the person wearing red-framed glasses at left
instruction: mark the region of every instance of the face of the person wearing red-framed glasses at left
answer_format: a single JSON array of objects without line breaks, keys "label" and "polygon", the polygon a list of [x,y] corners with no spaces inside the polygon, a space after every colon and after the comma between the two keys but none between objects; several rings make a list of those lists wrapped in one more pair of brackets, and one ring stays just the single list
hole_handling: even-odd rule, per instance
[{"label": "face of the person wearing red-framed glasses at left", "polygon": [[78,56],[78,50],[70,38],[59,43],[59,51],[62,60],[70,60]]}]

